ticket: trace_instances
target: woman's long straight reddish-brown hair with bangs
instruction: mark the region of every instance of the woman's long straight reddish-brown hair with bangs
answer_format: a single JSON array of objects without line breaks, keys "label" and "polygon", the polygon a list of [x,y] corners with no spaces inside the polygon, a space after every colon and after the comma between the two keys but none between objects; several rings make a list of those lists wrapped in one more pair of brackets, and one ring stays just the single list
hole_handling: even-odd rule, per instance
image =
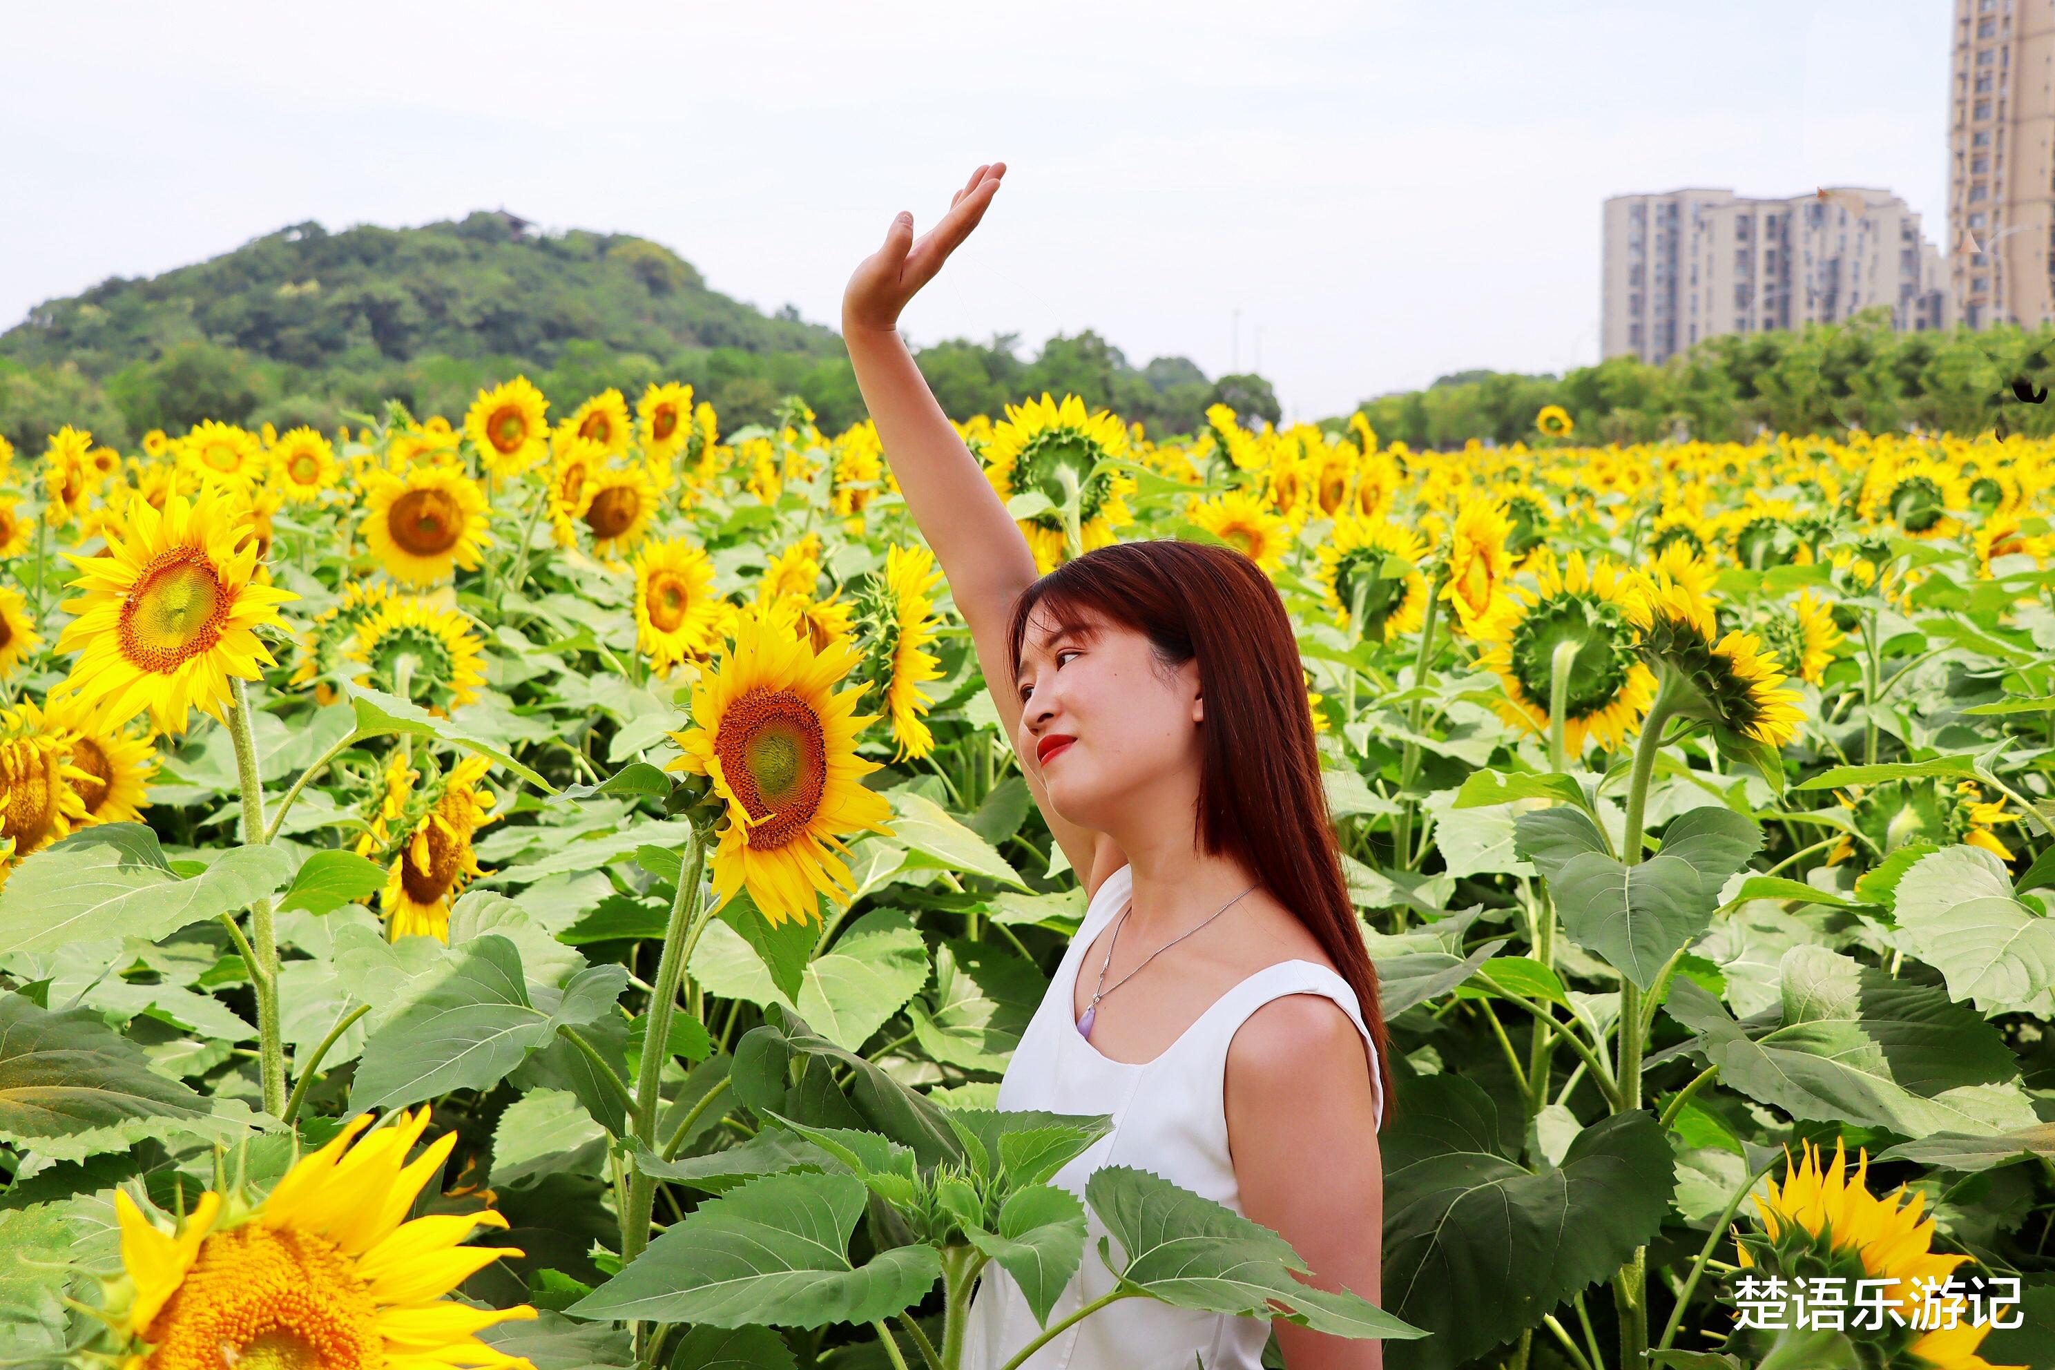
[{"label": "woman's long straight reddish-brown hair with bangs", "polygon": [[1247,865],[1319,939],[1356,992],[1377,1043],[1379,1099],[1389,1111],[1391,1050],[1377,967],[1342,875],[1299,641],[1270,577],[1241,553],[1210,542],[1161,538],[1095,548],[1021,592],[1009,626],[1013,680],[1038,606],[1056,626],[1083,626],[1089,610],[1134,629],[1165,670],[1198,661],[1206,698],[1198,840],[1208,854]]}]

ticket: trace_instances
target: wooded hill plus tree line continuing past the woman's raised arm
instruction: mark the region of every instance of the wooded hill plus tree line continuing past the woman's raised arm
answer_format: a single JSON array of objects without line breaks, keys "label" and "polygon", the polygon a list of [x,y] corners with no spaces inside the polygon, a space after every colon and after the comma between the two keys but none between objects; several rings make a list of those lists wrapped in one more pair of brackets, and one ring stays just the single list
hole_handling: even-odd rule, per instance
[{"label": "wooded hill plus tree line continuing past the woman's raised arm", "polygon": [[[1188,433],[1227,401],[1276,419],[1256,376],[1217,382],[1184,357],[1130,364],[1093,333],[1015,355],[1015,339],[921,353],[943,407],[997,415],[1042,390]],[[0,333],[0,437],[41,452],[66,423],[101,442],[201,419],[325,431],[388,398],[458,419],[481,386],[526,374],[563,413],[619,386],[684,380],[723,427],[801,396],[834,431],[863,417],[843,339],[709,290],[690,263],[629,234],[536,232],[506,212],[423,228],[296,224],[150,279],[109,279]]]}]

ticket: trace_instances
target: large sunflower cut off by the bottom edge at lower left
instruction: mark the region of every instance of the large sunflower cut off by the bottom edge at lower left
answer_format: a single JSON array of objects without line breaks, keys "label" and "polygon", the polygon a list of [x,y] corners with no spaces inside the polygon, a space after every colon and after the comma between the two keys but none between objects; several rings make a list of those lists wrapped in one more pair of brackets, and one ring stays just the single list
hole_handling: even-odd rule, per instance
[{"label": "large sunflower cut off by the bottom edge at lower left", "polygon": [[407,1220],[450,1150],[446,1132],[409,1165],[429,1109],[397,1113],[366,1136],[370,1113],[302,1156],[261,1204],[206,1191],[171,1232],[115,1191],[123,1276],[111,1323],[134,1370],[222,1366],[534,1366],[475,1333],[536,1317],[444,1298],[512,1247],[462,1247],[506,1228],[489,1208]]}]

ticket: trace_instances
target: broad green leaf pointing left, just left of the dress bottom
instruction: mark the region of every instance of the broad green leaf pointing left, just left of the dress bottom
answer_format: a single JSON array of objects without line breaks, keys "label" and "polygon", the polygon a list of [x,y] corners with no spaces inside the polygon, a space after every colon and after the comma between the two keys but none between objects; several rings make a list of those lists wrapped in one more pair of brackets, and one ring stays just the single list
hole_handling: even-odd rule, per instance
[{"label": "broad green leaf pointing left, just left of the dress bottom", "polygon": [[711,1327],[873,1323],[921,1302],[941,1257],[912,1245],[853,1265],[863,1206],[863,1183],[849,1175],[752,1179],[674,1222],[565,1312]]}]

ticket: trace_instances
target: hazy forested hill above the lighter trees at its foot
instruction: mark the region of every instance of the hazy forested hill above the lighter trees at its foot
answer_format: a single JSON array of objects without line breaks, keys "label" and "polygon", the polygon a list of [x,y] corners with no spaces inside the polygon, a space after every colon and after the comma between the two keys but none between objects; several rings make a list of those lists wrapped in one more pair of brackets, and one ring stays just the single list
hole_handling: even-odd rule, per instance
[{"label": "hazy forested hill above the lighter trees at its foot", "polygon": [[425,228],[294,224],[150,279],[109,279],[0,333],[27,366],[109,376],[206,339],[327,370],[423,355],[553,366],[567,343],[668,357],[682,347],[832,355],[832,331],[707,290],[670,249],[627,234],[545,236],[510,214]]}]

